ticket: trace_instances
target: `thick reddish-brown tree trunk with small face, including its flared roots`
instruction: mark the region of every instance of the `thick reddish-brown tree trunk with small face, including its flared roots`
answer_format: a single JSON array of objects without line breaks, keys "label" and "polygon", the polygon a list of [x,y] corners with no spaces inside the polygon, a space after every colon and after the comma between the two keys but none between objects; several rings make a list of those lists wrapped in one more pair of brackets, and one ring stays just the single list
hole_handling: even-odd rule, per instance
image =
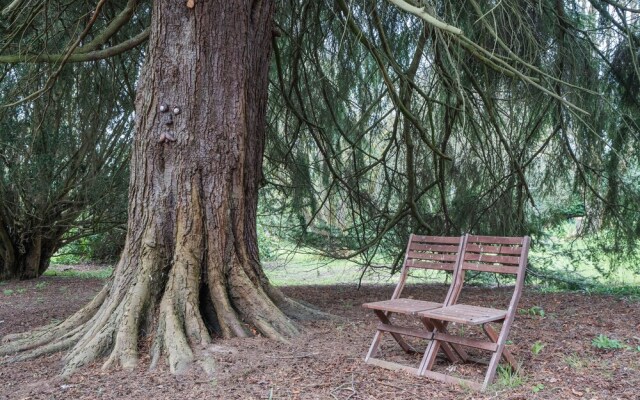
[{"label": "thick reddish-brown tree trunk with small face, including its flared roots", "polygon": [[153,2],[136,100],[125,249],[106,287],[54,327],[12,335],[17,359],[71,348],[63,373],[100,356],[131,368],[199,361],[211,334],[286,340],[312,310],[269,285],[256,210],[265,139],[272,1]]}]

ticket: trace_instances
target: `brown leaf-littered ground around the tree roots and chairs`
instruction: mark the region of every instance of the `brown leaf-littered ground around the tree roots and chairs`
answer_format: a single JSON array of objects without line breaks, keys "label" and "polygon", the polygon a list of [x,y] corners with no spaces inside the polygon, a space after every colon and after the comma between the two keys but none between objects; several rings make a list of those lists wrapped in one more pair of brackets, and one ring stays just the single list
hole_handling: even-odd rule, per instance
[{"label": "brown leaf-littered ground around the tree roots and chairs", "polygon": [[[61,321],[102,287],[101,279],[45,276],[33,281],[0,282],[0,337]],[[640,303],[624,298],[577,293],[540,293],[526,288],[509,335],[519,373],[503,371],[486,392],[448,386],[406,372],[367,365],[363,358],[377,323],[360,305],[387,299],[391,285],[291,286],[283,290],[339,317],[301,321],[302,336],[288,344],[256,337],[215,340],[214,379],[198,367],[183,375],[166,368],[149,371],[143,358],[133,372],[102,371],[100,364],[61,380],[62,354],[29,362],[3,363],[0,399],[639,399]],[[411,285],[405,295],[434,301],[446,287]],[[508,299],[508,288],[471,288],[463,300]],[[492,299],[487,301],[486,299]],[[452,330],[460,328],[452,327]],[[467,334],[469,332],[466,332]],[[593,340],[609,347],[601,350]],[[605,340],[607,339],[607,340]],[[615,342],[617,340],[617,342]],[[424,344],[416,343],[416,346]],[[144,354],[144,353],[143,353]],[[381,354],[417,365],[391,340]],[[436,368],[445,368],[439,361]],[[449,367],[481,377],[481,365]]]}]

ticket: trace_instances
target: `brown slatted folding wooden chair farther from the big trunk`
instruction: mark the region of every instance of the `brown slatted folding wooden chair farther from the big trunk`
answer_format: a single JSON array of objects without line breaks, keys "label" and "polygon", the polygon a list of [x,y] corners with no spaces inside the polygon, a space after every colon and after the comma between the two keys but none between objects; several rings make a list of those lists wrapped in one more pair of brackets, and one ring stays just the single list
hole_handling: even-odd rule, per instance
[{"label": "brown slatted folding wooden chair farther from the big trunk", "polygon": [[[460,271],[456,274],[456,280],[459,282],[454,286],[463,287],[466,271],[515,275],[516,281],[511,301],[506,310],[457,303],[419,312],[418,315],[421,318],[435,326],[433,340],[429,343],[420,364],[420,375],[442,382],[458,383],[474,389],[485,390],[493,381],[501,358],[504,358],[514,370],[517,368],[516,361],[505,348],[505,344],[524,286],[529,242],[528,236],[518,238],[466,236]],[[462,288],[462,290],[464,289]],[[481,325],[489,341],[450,334],[447,332],[447,324],[452,322],[463,325]],[[496,332],[489,325],[490,323],[501,323],[500,330]],[[438,348],[445,344],[469,346],[492,353],[482,384],[432,370]]]}]

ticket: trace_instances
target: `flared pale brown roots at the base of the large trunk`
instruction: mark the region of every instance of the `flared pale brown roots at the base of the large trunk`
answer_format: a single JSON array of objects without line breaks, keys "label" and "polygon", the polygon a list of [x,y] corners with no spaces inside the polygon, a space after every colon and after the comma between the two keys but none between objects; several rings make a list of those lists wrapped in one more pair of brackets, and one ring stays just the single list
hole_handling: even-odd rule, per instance
[{"label": "flared pale brown roots at the base of the large trunk", "polygon": [[299,334],[290,316],[329,317],[287,298],[266,279],[250,279],[235,257],[235,265],[226,274],[222,268],[208,268],[208,285],[202,285],[204,235],[197,217],[192,211],[191,217],[182,219],[184,226],[178,226],[176,236],[184,239],[176,244],[164,286],[152,279],[167,270],[162,268],[164,258],[153,235],[145,234],[137,261],[121,260],[119,273],[89,304],[57,325],[6,336],[0,355],[14,354],[9,361],[23,361],[70,349],[63,359],[63,376],[104,356],[105,369],[131,369],[138,363],[139,337],[153,334],[151,368],[164,356],[173,373],[197,363],[212,374],[213,363],[206,348],[212,342],[213,329],[202,316],[202,288],[211,298],[222,337],[259,333],[287,341]]}]

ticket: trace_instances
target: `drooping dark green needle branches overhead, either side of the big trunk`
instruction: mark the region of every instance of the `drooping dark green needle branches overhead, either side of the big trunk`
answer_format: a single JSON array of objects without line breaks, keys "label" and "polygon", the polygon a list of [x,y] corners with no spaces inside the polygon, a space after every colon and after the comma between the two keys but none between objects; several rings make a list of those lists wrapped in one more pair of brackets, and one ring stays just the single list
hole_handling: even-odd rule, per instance
[{"label": "drooping dark green needle branches overhead, either side of the big trunk", "polygon": [[[30,91],[5,105],[44,96],[72,62],[144,54],[125,52],[148,36],[144,1],[23,3],[3,8],[0,61],[49,72],[9,64],[4,84]],[[262,208],[287,218],[265,226],[368,265],[409,232],[579,216],[633,253],[634,2],[282,0],[275,20]]]}]

